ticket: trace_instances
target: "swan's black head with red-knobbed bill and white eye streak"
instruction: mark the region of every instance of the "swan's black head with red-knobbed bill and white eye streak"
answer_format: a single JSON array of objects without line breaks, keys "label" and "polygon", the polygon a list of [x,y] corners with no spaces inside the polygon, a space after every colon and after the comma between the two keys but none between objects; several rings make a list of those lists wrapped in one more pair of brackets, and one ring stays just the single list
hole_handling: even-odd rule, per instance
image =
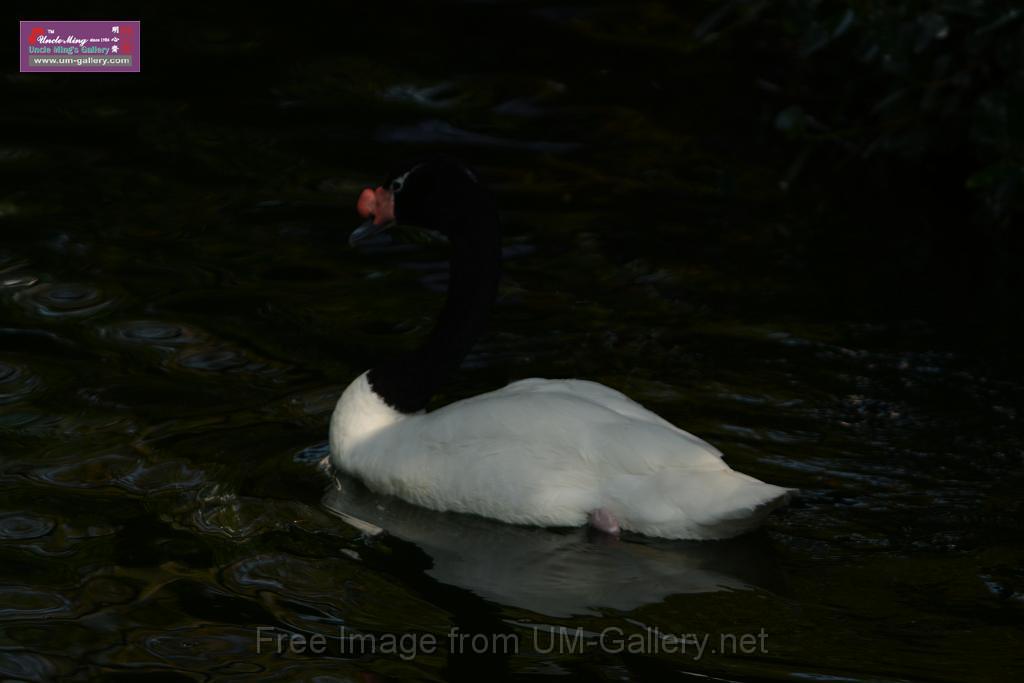
[{"label": "swan's black head with red-knobbed bill and white eye streak", "polygon": [[367,220],[352,232],[353,245],[396,222],[436,230],[452,241],[472,239],[492,227],[495,215],[477,174],[447,157],[409,164],[376,189],[367,187],[356,210]]}]

